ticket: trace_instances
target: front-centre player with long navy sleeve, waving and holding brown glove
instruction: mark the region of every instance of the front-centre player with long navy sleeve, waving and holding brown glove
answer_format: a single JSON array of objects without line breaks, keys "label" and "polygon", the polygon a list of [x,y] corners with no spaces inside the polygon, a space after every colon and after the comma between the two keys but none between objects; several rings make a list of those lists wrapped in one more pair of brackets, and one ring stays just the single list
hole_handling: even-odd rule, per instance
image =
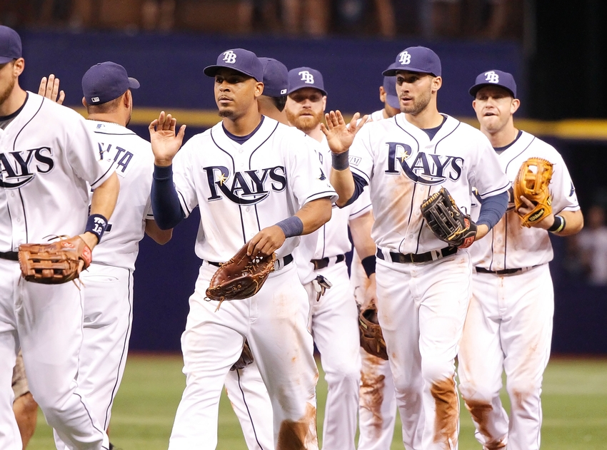
[{"label": "front-centre player with long navy sleeve, waving and holding brown glove", "polygon": [[[222,121],[179,153],[185,126],[176,134],[176,120],[164,111],[150,124],[156,221],[169,228],[196,205],[201,210],[196,255],[203,263],[181,337],[186,389],[171,450],[216,447],[221,387],[245,338],[272,401],[276,449],[318,448],[309,305],[291,252],[300,235],[331,217],[336,194],[313,153],[302,150],[299,131],[259,113],[263,71],[255,53],[242,48],[206,67]],[[205,300],[206,288],[218,265],[244,245],[253,256],[276,252],[275,270],[256,295],[218,308]]]}]

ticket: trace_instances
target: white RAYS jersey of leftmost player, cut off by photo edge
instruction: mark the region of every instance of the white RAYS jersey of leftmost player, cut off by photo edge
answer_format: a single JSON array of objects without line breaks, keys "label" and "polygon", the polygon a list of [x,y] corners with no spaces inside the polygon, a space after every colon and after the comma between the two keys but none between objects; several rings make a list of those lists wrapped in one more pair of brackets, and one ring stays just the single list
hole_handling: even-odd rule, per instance
[{"label": "white RAYS jersey of leftmost player, cut off by photo edge", "polygon": [[0,252],[84,232],[87,183],[95,189],[112,173],[110,161],[96,158],[97,144],[79,113],[28,96],[21,113],[0,129]]}]

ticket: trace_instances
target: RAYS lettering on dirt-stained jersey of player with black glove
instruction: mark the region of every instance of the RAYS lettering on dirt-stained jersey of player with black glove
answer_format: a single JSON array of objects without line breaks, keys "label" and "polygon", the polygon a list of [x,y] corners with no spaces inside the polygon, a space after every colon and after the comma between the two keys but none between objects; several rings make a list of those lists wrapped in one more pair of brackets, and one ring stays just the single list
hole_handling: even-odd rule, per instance
[{"label": "RAYS lettering on dirt-stained jersey of player with black glove", "polygon": [[410,145],[398,142],[387,142],[387,174],[398,175],[401,166],[403,172],[414,183],[438,185],[447,178],[456,181],[461,177],[463,158],[459,156],[437,155],[436,153],[418,152],[413,156]]}]

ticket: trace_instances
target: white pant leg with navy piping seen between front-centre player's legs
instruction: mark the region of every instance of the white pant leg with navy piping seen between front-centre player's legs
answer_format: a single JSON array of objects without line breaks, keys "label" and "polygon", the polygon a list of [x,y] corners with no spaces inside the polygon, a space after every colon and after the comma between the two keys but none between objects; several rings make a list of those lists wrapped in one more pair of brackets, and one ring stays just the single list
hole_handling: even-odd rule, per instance
[{"label": "white pant leg with navy piping seen between front-centre player's legs", "polygon": [[249,450],[274,450],[272,402],[256,362],[231,370],[226,392],[238,417]]}]

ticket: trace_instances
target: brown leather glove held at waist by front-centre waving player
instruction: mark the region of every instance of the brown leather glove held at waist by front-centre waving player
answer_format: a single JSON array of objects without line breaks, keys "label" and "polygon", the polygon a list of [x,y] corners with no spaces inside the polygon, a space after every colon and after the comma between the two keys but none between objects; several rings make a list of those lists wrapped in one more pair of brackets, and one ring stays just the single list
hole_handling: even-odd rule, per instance
[{"label": "brown leather glove held at waist by front-centre waving player", "polygon": [[[231,260],[217,269],[206,290],[211,300],[244,300],[255,295],[274,270],[276,253],[252,257],[246,254],[245,244]],[[221,303],[220,303],[221,305]],[[218,306],[219,309],[219,306]]]}]

